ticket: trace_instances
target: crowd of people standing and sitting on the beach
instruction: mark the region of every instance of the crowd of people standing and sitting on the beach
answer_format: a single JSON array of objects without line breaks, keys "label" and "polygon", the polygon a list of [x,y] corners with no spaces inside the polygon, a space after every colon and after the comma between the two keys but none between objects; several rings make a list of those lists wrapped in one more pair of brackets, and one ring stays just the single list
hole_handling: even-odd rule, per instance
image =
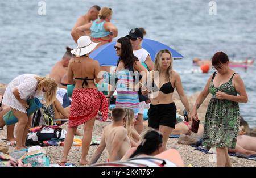
[{"label": "crowd of people standing and sitting on the beach", "polygon": [[[184,166],[179,152],[167,147],[174,133],[202,138],[203,146],[216,149],[217,166],[232,166],[229,152],[256,154],[255,138],[243,135],[240,130],[238,103],[247,103],[246,88],[240,75],[229,67],[230,61],[224,52],[213,54],[210,66],[215,71],[205,81],[204,90],[191,108],[180,75],[173,70],[174,58],[170,50],[162,49],[150,56],[142,48],[145,29],[128,29],[127,35],[119,37],[113,48],[118,56],[112,73],[115,82],[106,83],[101,74],[110,73],[110,66],[101,66],[89,55],[118,36],[118,29],[111,22],[112,15],[109,7],[90,7],[71,30],[77,48],[66,47],[63,58],[52,67],[48,77],[22,74],[6,86],[1,93],[0,128],[7,126],[9,145],[14,145],[16,150],[27,149],[26,139],[32,122],[27,100],[36,97],[42,99],[44,112],[56,120],[56,125],[61,126],[68,119],[60,163],[67,163],[75,135],[83,135],[81,165],[97,165],[106,149],[109,163],[154,157],[165,160],[166,166]],[[99,90],[102,84],[107,90]],[[68,86],[71,85],[74,88],[69,97]],[[187,112],[187,120],[176,119],[175,90]],[[193,133],[193,125],[199,125],[200,120],[197,109],[209,94],[212,98],[205,120],[200,122],[197,134]],[[115,108],[109,109],[113,103]],[[145,109],[148,109],[146,130]],[[16,127],[4,120],[3,116],[10,111],[18,118]],[[104,128],[92,159],[88,160],[94,122],[99,113],[102,121],[110,119],[111,122]],[[79,125],[83,125],[83,133],[77,130]]]}]

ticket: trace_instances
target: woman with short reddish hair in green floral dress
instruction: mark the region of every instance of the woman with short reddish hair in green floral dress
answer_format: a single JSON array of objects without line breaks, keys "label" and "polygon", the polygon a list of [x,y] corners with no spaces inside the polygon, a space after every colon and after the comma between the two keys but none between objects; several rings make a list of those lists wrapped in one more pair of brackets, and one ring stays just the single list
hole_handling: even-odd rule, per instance
[{"label": "woman with short reddish hair in green floral dress", "polygon": [[217,166],[231,166],[228,148],[236,147],[240,124],[238,103],[247,103],[248,100],[240,75],[228,64],[229,58],[225,53],[214,54],[212,66],[216,72],[208,79],[191,113],[191,119],[198,121],[197,109],[207,95],[212,94],[205,115],[203,145],[216,147]]}]

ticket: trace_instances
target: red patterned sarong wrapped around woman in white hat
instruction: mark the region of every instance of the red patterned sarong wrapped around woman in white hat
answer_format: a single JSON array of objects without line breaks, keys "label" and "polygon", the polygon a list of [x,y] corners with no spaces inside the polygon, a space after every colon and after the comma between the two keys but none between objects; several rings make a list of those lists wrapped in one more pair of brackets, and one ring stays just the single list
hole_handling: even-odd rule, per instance
[{"label": "red patterned sarong wrapped around woman in white hat", "polygon": [[103,121],[108,118],[108,101],[104,94],[94,88],[73,90],[68,128],[84,124],[96,117],[98,111],[102,113]]}]

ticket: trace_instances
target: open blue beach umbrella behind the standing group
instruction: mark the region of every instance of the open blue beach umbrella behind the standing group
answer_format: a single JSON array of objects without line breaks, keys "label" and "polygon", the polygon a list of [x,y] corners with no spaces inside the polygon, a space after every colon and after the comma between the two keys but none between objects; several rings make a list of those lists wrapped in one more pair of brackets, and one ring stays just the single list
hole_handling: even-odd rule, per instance
[{"label": "open blue beach umbrella behind the standing group", "polygon": [[[90,54],[90,58],[98,60],[101,66],[115,66],[119,58],[115,53],[115,43],[116,41],[112,41],[110,43],[100,46],[98,49],[94,50]],[[176,50],[155,40],[143,39],[142,48],[146,49],[148,53],[150,53],[153,62],[155,60],[155,54],[161,49],[170,50],[172,56],[174,57],[174,60],[183,58],[183,56],[180,53],[176,52]]]}]

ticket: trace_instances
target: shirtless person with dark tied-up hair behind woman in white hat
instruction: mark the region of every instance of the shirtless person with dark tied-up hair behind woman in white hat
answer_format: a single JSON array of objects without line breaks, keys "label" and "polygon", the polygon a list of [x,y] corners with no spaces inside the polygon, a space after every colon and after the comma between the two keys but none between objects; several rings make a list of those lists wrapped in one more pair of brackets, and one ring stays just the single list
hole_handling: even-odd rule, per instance
[{"label": "shirtless person with dark tied-up hair behind woman in white hat", "polygon": [[61,79],[67,73],[69,60],[73,57],[71,50],[71,48],[66,47],[64,56],[60,61],[55,63],[55,65],[52,67],[51,73],[49,74],[49,77],[53,78],[59,87],[67,88],[67,83],[61,83]]}]

